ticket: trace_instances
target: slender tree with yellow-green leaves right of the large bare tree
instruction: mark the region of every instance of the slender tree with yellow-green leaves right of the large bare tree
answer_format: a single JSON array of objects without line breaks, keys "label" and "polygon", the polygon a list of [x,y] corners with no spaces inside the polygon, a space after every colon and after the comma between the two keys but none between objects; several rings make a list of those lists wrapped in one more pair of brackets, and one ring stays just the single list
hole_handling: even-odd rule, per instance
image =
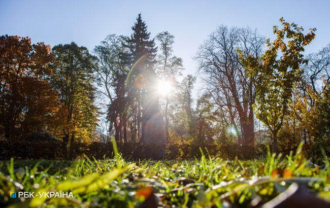
[{"label": "slender tree with yellow-green leaves right of the large bare tree", "polygon": [[280,22],[283,28],[273,27],[277,37],[272,43],[267,40],[268,49],[259,59],[251,55],[245,58],[240,52],[250,76],[256,78],[254,111],[256,117],[272,132],[273,152],[277,151],[277,133],[288,113],[292,90],[302,73],[300,65],[307,63],[302,52],[315,38],[315,28],[304,35],[302,27],[289,24],[283,18]]}]

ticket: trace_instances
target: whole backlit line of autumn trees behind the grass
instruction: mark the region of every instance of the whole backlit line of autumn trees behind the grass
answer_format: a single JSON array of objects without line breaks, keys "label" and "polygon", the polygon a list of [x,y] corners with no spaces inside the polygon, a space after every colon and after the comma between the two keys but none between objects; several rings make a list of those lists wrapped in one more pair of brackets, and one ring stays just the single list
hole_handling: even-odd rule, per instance
[{"label": "whole backlit line of autumn trees behind the grass", "polygon": [[150,137],[182,152],[183,144],[276,152],[304,142],[311,155],[328,154],[330,44],[305,54],[315,29],[280,23],[274,40],[218,26],[195,53],[196,76],[182,75],[173,34],[152,38],[141,14],[131,36],[109,34],[93,51],[1,36],[0,140],[58,141],[64,158],[76,144]]}]

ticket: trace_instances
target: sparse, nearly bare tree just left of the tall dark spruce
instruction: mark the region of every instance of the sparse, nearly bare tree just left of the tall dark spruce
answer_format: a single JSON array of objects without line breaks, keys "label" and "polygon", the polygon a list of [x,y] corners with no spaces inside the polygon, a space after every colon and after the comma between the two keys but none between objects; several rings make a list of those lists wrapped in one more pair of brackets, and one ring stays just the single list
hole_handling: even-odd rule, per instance
[{"label": "sparse, nearly bare tree just left of the tall dark spruce", "polygon": [[[128,53],[124,46],[125,37],[111,34],[101,42],[101,45],[95,46],[94,53],[98,58],[98,67],[96,70],[97,83],[102,87],[100,93],[109,99],[107,118],[110,120],[109,130],[112,125],[115,129],[115,139],[120,141],[121,128],[123,127],[124,141],[127,141],[126,123],[127,105],[131,104],[128,91],[125,86],[125,80],[128,74],[127,64],[121,59],[121,55]],[[135,135],[134,135],[135,136]]]}]

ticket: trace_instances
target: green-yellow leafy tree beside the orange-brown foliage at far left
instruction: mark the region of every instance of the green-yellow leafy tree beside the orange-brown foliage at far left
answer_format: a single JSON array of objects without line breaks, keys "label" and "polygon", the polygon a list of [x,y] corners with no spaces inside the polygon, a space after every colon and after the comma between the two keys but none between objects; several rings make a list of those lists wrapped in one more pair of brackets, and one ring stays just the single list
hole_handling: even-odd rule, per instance
[{"label": "green-yellow leafy tree beside the orange-brown foliage at far left", "polygon": [[74,42],[54,46],[52,50],[56,61],[51,81],[58,92],[65,118],[61,126],[62,150],[64,158],[69,158],[73,156],[73,146],[77,140],[90,141],[97,123],[98,109],[94,103],[93,86],[96,58],[89,54],[87,48],[79,47]]}]

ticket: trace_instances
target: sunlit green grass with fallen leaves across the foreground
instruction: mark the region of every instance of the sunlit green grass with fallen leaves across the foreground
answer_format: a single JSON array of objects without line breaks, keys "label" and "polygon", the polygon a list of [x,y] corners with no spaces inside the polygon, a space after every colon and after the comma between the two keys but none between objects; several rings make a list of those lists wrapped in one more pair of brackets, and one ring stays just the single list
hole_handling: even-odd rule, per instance
[{"label": "sunlit green grass with fallen leaves across the foreground", "polygon": [[[298,197],[303,194],[302,201],[330,200],[328,158],[322,166],[313,165],[300,150],[247,161],[206,155],[182,161],[126,161],[118,154],[114,159],[73,162],[11,160],[0,170],[0,206],[249,207],[276,200],[295,183],[307,188],[297,192]],[[72,191],[74,198],[15,199],[9,198],[10,191]]]}]

